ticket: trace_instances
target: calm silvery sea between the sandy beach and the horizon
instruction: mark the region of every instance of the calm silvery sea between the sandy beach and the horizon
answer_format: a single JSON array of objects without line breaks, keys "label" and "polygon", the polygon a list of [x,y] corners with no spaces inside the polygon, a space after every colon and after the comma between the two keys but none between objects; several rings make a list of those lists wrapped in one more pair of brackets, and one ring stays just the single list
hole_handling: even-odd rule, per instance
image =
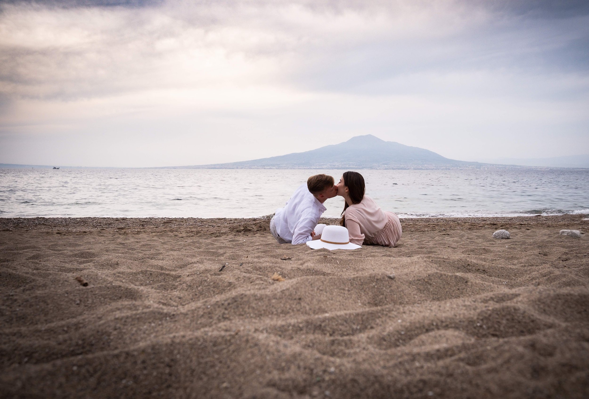
[{"label": "calm silvery sea between the sandy beach and the horizon", "polygon": [[[257,217],[317,173],[284,169],[0,169],[0,217]],[[589,171],[363,170],[401,217],[589,214]],[[327,200],[337,217],[341,197]]]}]

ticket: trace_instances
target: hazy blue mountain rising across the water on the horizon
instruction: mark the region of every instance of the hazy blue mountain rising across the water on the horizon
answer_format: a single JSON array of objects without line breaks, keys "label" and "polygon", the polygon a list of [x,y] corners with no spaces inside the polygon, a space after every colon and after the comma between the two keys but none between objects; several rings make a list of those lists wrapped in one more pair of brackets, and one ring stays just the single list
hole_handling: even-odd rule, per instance
[{"label": "hazy blue mountain rising across the water on the horizon", "polygon": [[428,149],[384,141],[371,134],[305,152],[227,164],[193,165],[202,169],[454,169],[479,167],[478,162],[456,161]]}]

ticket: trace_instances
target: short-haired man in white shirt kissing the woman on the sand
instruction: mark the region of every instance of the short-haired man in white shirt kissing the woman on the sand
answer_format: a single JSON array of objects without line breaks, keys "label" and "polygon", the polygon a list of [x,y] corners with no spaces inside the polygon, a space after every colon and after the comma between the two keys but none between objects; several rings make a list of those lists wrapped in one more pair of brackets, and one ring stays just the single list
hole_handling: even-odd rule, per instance
[{"label": "short-haired man in white shirt kissing the woman on the sand", "polygon": [[337,186],[333,183],[331,176],[311,176],[307,184],[294,191],[286,206],[276,211],[270,221],[270,232],[279,244],[296,245],[321,238],[325,225],[317,226],[317,222],[326,209],[323,202],[337,195]]}]

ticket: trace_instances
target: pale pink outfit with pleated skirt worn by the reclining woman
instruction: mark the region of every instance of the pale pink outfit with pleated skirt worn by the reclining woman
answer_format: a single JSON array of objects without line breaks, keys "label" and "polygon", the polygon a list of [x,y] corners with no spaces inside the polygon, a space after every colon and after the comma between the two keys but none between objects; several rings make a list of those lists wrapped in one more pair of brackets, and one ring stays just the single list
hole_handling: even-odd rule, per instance
[{"label": "pale pink outfit with pleated skirt worn by the reclining woman", "polygon": [[384,212],[370,197],[350,205],[344,212],[346,228],[353,244],[394,247],[401,238],[401,222],[393,212]]}]

